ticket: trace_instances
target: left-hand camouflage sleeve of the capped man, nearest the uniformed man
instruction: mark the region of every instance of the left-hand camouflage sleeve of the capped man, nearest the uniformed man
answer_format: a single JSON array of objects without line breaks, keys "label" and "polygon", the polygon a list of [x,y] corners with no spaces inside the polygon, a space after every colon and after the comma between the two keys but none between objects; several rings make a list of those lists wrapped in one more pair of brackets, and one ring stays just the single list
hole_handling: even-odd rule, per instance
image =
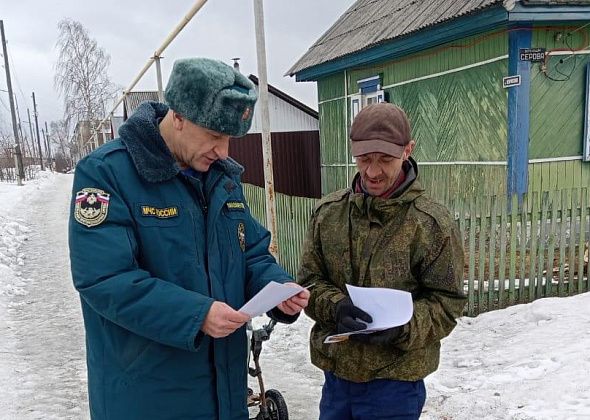
[{"label": "left-hand camouflage sleeve of the capped man, nearest the uniformed man", "polygon": [[311,295],[305,313],[323,328],[335,330],[334,310],[336,303],[344,299],[345,294],[330,281],[323,260],[319,228],[317,213],[314,213],[303,242],[297,282],[304,287],[315,283],[315,286],[310,289]]}]

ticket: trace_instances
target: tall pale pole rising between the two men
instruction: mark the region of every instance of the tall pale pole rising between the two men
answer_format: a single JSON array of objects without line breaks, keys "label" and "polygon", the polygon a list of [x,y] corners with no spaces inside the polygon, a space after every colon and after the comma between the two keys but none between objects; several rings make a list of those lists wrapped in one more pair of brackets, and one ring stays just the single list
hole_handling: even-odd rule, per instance
[{"label": "tall pale pole rising between the two men", "polygon": [[254,0],[254,26],[256,28],[256,56],[258,59],[258,106],[262,120],[262,161],[266,195],[266,228],[270,231],[269,251],[278,256],[277,210],[270,138],[270,111],[268,109],[268,82],[266,77],[266,45],[264,40],[264,11],[262,0]]}]

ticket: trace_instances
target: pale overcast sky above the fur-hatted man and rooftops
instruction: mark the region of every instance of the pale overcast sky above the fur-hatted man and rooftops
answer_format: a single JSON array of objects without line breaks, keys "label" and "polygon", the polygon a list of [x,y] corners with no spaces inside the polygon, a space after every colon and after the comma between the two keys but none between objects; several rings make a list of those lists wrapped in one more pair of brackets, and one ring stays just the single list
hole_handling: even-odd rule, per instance
[{"label": "pale overcast sky above the fur-hatted man and rooftops", "polygon": [[[266,0],[269,83],[317,109],[315,83],[296,83],[283,75],[354,1]],[[62,118],[62,100],[53,86],[61,19],[84,25],[111,56],[112,82],[126,88],[193,4],[194,0],[0,0],[21,119],[27,119],[27,107],[32,111],[33,91],[40,123]],[[257,74],[253,9],[253,0],[209,0],[164,52],[164,86],[173,61],[181,57],[213,57],[228,64],[232,57],[240,57],[241,71]],[[0,62],[0,89],[5,90],[3,60]],[[155,90],[155,72],[152,66],[135,90]],[[0,91],[0,98],[0,124],[9,129],[6,92]]]}]

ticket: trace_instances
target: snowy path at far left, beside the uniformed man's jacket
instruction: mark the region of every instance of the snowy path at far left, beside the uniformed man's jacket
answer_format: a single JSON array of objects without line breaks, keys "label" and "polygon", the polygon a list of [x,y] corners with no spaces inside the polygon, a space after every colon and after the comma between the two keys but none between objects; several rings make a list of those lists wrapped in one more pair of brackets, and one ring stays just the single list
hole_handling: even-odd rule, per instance
[{"label": "snowy path at far left, beside the uniformed man's jacket", "polygon": [[84,334],[67,250],[71,175],[0,183],[0,419],[86,419]]}]

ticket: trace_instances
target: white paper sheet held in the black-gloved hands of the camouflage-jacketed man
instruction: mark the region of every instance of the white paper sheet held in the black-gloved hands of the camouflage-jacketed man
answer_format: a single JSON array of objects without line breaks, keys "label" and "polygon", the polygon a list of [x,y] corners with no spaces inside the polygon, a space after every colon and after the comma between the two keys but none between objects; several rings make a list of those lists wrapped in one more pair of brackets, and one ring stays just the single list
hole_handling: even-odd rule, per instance
[{"label": "white paper sheet held in the black-gloved hands of the camouflage-jacketed man", "polygon": [[412,294],[403,290],[380,287],[346,285],[350,300],[355,306],[371,315],[373,322],[364,330],[326,337],[324,343],[338,343],[352,334],[369,334],[407,324],[414,313]]}]

